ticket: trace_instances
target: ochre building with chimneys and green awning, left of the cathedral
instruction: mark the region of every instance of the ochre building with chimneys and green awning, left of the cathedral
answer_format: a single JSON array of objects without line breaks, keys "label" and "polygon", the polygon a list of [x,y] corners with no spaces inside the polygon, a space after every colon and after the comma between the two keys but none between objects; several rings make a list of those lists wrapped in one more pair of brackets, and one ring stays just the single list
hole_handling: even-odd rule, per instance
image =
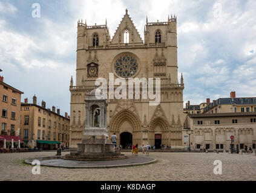
[{"label": "ochre building with chimneys and green awning, left of the cathedral", "polygon": [[44,150],[53,150],[57,147],[69,147],[70,118],[60,114],[60,109],[46,108],[45,101],[37,104],[36,96],[33,103],[25,98],[21,103],[21,138],[28,147],[37,147]]}]

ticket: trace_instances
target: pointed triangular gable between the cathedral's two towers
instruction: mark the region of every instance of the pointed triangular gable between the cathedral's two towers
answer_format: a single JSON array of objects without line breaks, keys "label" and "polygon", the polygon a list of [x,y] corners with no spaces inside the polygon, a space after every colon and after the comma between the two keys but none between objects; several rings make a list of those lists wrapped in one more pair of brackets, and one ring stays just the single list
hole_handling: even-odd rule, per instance
[{"label": "pointed triangular gable between the cathedral's two towers", "polygon": [[133,24],[133,21],[131,20],[131,17],[128,14],[128,10],[126,9],[125,11],[126,13],[123,16],[123,19],[120,22],[116,33],[114,33],[114,37],[111,40],[110,44],[124,43],[123,34],[125,33],[125,30],[129,31],[129,43],[143,43],[139,32],[137,31],[136,27]]}]

